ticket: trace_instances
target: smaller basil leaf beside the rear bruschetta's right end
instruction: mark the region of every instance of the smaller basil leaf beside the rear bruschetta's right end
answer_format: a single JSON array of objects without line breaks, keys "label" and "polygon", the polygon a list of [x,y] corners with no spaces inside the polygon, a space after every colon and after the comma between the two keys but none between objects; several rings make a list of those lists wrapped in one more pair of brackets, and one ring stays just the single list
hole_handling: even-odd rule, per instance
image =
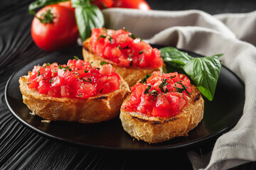
[{"label": "smaller basil leaf beside the rear bruschetta's right end", "polygon": [[175,47],[164,47],[159,50],[161,51],[161,57],[164,62],[168,62],[172,67],[178,69],[181,69],[192,58],[186,52],[181,52]]}]

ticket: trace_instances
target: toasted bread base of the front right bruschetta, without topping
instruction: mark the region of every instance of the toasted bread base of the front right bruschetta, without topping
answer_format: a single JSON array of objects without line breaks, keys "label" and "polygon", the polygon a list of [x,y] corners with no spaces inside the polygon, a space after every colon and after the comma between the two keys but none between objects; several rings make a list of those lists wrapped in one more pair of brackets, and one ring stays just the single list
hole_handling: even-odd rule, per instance
[{"label": "toasted bread base of the front right bruschetta, without topping", "polygon": [[[127,96],[126,100],[129,100]],[[139,112],[127,112],[121,108],[119,118],[124,130],[137,140],[159,143],[171,138],[186,136],[203,119],[204,101],[196,86],[192,85],[188,105],[170,118],[149,117]]]}]

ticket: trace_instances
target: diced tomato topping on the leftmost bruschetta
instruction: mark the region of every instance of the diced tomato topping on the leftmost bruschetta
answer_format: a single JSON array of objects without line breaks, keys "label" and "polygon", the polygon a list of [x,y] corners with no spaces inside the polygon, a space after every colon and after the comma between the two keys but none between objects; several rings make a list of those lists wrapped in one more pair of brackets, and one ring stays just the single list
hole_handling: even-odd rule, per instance
[{"label": "diced tomato topping on the leftmost bruschetta", "polygon": [[91,67],[82,60],[68,60],[67,64],[35,66],[28,77],[28,88],[52,97],[85,99],[108,94],[119,89],[120,77],[110,64]]}]

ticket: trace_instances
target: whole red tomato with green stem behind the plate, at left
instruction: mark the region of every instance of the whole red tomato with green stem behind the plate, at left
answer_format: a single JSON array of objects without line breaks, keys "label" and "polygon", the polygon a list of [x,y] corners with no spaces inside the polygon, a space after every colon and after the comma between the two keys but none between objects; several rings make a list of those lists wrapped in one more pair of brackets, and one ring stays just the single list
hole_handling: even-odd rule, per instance
[{"label": "whole red tomato with green stem behind the plate, at left", "polygon": [[[53,20],[50,23],[41,23],[38,18],[50,9]],[[73,45],[78,38],[78,27],[75,21],[75,14],[68,8],[59,5],[50,5],[41,8],[36,13],[38,18],[33,18],[31,35],[38,47],[52,52],[63,47]]]}]

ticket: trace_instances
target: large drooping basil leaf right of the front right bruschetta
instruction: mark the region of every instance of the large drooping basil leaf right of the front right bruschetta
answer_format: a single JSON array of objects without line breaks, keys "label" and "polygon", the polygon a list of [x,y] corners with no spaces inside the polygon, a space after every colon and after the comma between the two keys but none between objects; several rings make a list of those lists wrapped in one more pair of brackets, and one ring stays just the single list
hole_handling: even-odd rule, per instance
[{"label": "large drooping basil leaf right of the front right bruschetta", "polygon": [[213,100],[220,75],[221,60],[218,59],[220,56],[192,58],[183,67],[183,70],[193,79],[201,94],[209,101]]}]

